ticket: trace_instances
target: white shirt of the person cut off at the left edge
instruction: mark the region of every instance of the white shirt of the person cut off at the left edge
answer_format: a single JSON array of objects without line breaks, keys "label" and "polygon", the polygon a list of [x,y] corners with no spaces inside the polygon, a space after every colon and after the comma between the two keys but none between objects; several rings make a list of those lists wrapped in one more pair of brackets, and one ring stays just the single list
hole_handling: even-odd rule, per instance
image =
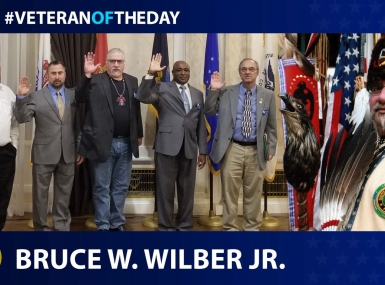
[{"label": "white shirt of the person cut off at the left edge", "polygon": [[13,110],[16,96],[12,90],[0,83],[0,146],[12,143],[17,148],[19,125]]}]

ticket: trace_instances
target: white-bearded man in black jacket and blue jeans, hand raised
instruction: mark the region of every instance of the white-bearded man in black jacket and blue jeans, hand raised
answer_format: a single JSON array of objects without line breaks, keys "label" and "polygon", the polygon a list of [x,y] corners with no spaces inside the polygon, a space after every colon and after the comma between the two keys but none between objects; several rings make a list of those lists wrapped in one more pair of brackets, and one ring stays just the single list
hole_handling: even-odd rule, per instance
[{"label": "white-bearded man in black jacket and blue jeans, hand raised", "polygon": [[78,152],[91,161],[98,230],[125,231],[132,154],[139,157],[143,137],[140,104],[134,97],[138,79],[123,73],[121,49],[108,51],[105,73],[93,74],[100,66],[94,57],[84,56],[85,75],[75,90],[77,102],[88,102]]}]

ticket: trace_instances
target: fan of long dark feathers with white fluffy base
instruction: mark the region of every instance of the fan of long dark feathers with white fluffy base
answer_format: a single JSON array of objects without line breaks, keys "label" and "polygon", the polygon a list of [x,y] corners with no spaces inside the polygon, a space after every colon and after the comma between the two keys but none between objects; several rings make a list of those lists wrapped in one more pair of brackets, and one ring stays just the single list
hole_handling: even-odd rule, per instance
[{"label": "fan of long dark feathers with white fluffy base", "polygon": [[364,121],[351,128],[340,146],[343,133],[342,129],[334,141],[333,134],[330,135],[322,158],[320,212],[324,231],[337,230],[339,221],[359,190],[377,144],[373,126]]}]

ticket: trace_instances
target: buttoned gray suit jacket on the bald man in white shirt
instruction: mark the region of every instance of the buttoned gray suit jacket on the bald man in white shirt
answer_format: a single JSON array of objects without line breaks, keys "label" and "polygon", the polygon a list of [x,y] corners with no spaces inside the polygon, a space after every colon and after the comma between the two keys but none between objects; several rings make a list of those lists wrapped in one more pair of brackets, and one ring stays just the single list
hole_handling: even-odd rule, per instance
[{"label": "buttoned gray suit jacket on the bald man in white shirt", "polygon": [[158,111],[159,128],[155,139],[155,151],[176,156],[184,142],[186,158],[207,154],[207,130],[203,113],[203,93],[189,85],[192,108],[186,114],[183,100],[174,81],[158,82],[151,89],[152,80],[143,78],[137,99],[153,104]]}]

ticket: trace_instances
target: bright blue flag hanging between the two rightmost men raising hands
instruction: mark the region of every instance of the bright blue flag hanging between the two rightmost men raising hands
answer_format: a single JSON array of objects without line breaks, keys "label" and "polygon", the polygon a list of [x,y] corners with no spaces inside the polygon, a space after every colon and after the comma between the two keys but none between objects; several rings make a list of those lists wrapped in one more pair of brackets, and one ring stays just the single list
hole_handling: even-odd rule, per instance
[{"label": "bright blue flag hanging between the two rightmost men raising hands", "polygon": [[[205,52],[205,67],[203,72],[203,88],[208,94],[208,88],[211,81],[211,75],[214,71],[219,71],[219,52],[218,52],[218,34],[207,34],[206,52]],[[217,130],[218,114],[214,116],[206,116],[206,126],[208,131],[208,153],[213,145],[214,134]],[[212,174],[219,173],[219,163],[214,163],[209,158],[209,167]]]}]

